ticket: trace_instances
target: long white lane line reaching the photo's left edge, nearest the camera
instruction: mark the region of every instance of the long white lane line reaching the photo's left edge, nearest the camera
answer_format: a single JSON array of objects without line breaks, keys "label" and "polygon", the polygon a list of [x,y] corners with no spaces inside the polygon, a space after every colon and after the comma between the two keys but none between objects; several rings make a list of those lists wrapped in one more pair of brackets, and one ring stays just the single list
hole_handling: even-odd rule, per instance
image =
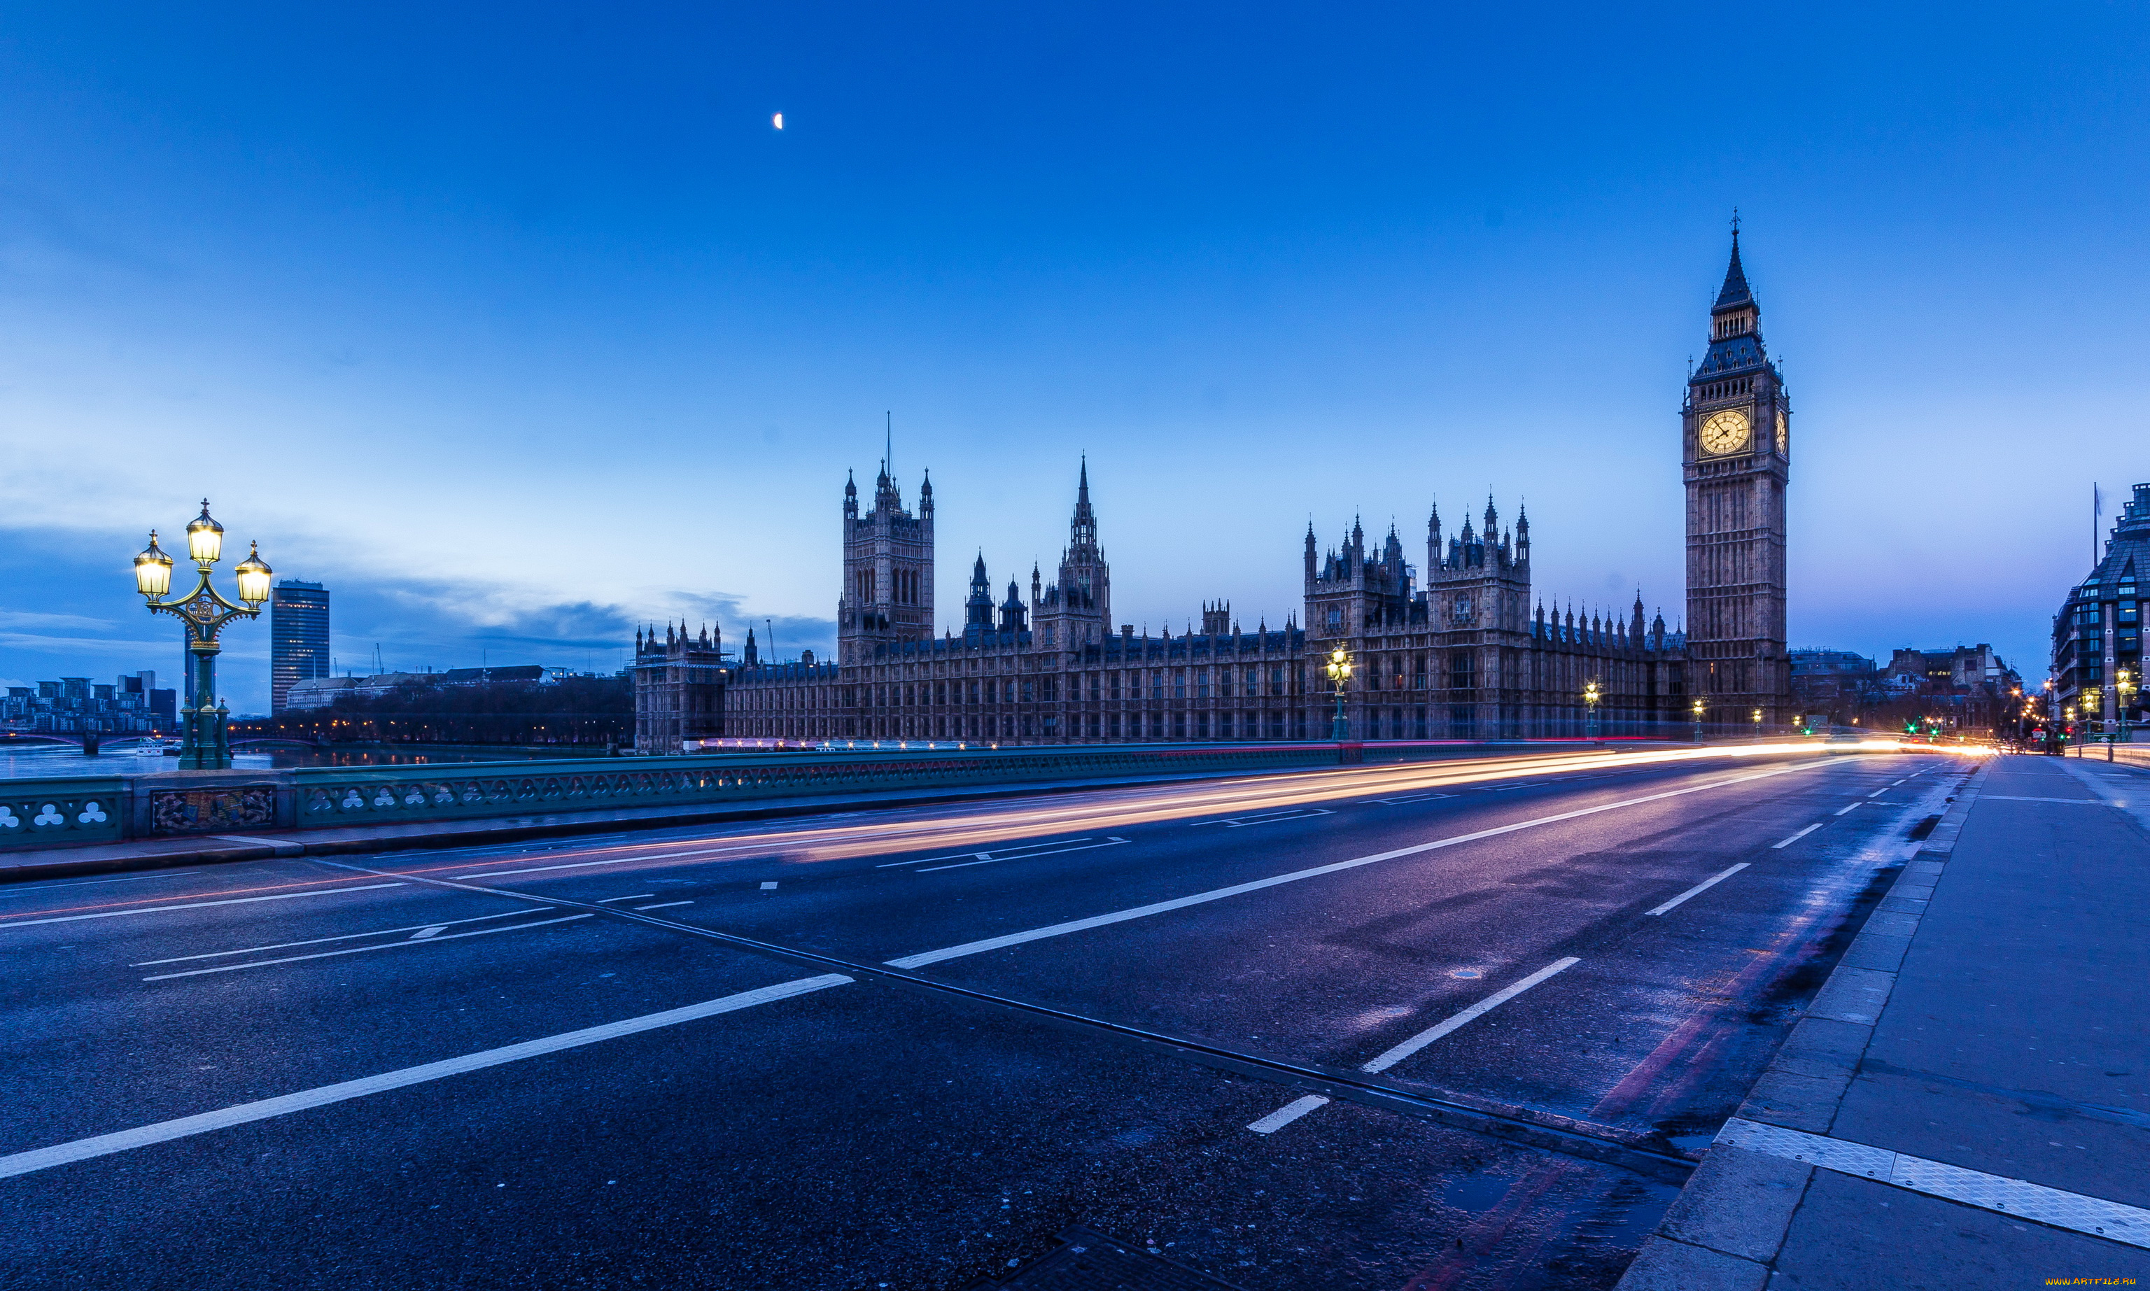
[{"label": "long white lane line reaching the photo's left edge, nearest the camera", "polygon": [[15,1175],[28,1175],[32,1171],[47,1171],[52,1166],[64,1166],[77,1160],[110,1156],[114,1151],[127,1151],[131,1147],[148,1147],[150,1143],[170,1143],[172,1138],[185,1138],[189,1134],[206,1134],[209,1130],[245,1126],[247,1121],[267,1121],[269,1117],[284,1117],[290,1113],[327,1106],[331,1102],[344,1102],[348,1098],[366,1098],[368,1093],[385,1093],[389,1089],[402,1089],[404,1085],[424,1085],[426,1080],[441,1080],[445,1076],[479,1072],[484,1068],[497,1068],[501,1063],[514,1063],[527,1057],[559,1053],[563,1048],[578,1048],[583,1044],[598,1044],[600,1040],[617,1040],[621,1035],[634,1035],[639,1031],[656,1031],[658,1027],[677,1027],[679,1022],[694,1022],[699,1018],[729,1014],[733,1010],[752,1007],[757,1003],[791,999],[796,995],[806,995],[811,990],[843,986],[845,982],[851,982],[851,977],[845,977],[843,973],[828,973],[821,977],[800,977],[796,982],[778,982],[776,986],[763,986],[759,990],[742,990],[737,995],[727,995],[722,999],[710,999],[703,1003],[690,1003],[686,1007],[666,1010],[662,1014],[643,1014],[639,1018],[626,1018],[621,1022],[604,1022],[602,1027],[585,1027],[580,1031],[546,1035],[544,1040],[525,1040],[522,1044],[507,1044],[501,1048],[467,1053],[462,1057],[441,1059],[436,1063],[424,1063],[417,1068],[402,1068],[398,1072],[383,1072],[378,1076],[363,1076],[359,1080],[344,1080],[340,1085],[301,1089],[299,1093],[284,1093],[280,1098],[264,1098],[260,1102],[241,1102],[236,1106],[228,1106],[213,1113],[178,1117],[176,1121],[157,1121],[155,1126],[138,1126],[133,1130],[120,1130],[116,1134],[97,1134],[95,1138],[75,1138],[73,1143],[58,1143],[54,1147],[39,1147],[34,1151],[17,1151],[13,1156],[0,1156],[0,1179],[13,1179]]}]

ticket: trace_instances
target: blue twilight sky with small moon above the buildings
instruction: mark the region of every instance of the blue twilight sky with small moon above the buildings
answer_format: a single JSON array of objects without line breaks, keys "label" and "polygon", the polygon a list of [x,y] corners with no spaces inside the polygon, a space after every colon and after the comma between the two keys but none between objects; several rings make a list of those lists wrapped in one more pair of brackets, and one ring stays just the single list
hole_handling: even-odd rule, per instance
[{"label": "blue twilight sky with small moon above the buildings", "polygon": [[1677,619],[1733,206],[1793,644],[2042,677],[2150,479],[2146,67],[2092,4],[11,4],[0,681],[170,672],[127,561],[202,494],[346,668],[826,647],[884,412],[944,621],[1079,453],[1152,629],[1488,490],[1548,604]]}]

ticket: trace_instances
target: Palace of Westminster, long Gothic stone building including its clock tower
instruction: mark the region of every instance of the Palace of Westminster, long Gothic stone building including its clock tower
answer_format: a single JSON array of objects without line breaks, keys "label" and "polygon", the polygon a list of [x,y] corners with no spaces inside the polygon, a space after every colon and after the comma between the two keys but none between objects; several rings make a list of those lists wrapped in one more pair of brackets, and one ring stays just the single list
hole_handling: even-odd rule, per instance
[{"label": "Palace of Westminster, long Gothic stone building including its clock tower", "polygon": [[1711,724],[1784,722],[1791,410],[1759,318],[1735,230],[1681,408],[1683,634],[1645,623],[1640,595],[1625,621],[1533,608],[1531,522],[1518,511],[1503,528],[1488,501],[1456,533],[1428,518],[1423,584],[1393,528],[1370,548],[1352,524],[1324,552],[1309,526],[1303,619],[1243,632],[1219,604],[1202,608],[1200,632],[1137,636],[1112,621],[1084,466],[1058,578],[1032,569],[1028,599],[1008,582],[995,604],[980,556],[961,636],[935,636],[933,483],[912,511],[884,462],[871,507],[856,483],[843,490],[836,659],[763,662],[752,632],[737,659],[707,629],[639,634],[634,748],[1327,739],[1337,644],[1354,662],[1350,739],[1580,735],[1585,683],[1606,735],[1681,732],[1696,700]]}]

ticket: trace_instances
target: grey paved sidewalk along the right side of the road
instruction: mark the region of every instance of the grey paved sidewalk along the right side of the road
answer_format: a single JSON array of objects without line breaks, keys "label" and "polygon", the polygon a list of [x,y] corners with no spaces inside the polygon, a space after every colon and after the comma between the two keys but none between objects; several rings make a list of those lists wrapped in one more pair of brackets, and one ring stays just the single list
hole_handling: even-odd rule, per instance
[{"label": "grey paved sidewalk along the right side of the road", "polygon": [[2150,771],[1980,769],[1621,1291],[2150,1287]]}]

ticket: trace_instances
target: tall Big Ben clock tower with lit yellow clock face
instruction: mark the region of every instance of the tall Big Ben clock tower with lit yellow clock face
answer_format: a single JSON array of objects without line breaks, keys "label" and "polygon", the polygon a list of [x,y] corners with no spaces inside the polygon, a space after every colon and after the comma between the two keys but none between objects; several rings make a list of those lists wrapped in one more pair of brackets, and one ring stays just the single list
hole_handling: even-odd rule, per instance
[{"label": "tall Big Ben clock tower with lit yellow clock face", "polygon": [[1709,354],[1681,408],[1688,483],[1688,694],[1709,722],[1791,717],[1784,653],[1784,485],[1791,402],[1761,344],[1761,307],[1733,260],[1709,309]]}]

